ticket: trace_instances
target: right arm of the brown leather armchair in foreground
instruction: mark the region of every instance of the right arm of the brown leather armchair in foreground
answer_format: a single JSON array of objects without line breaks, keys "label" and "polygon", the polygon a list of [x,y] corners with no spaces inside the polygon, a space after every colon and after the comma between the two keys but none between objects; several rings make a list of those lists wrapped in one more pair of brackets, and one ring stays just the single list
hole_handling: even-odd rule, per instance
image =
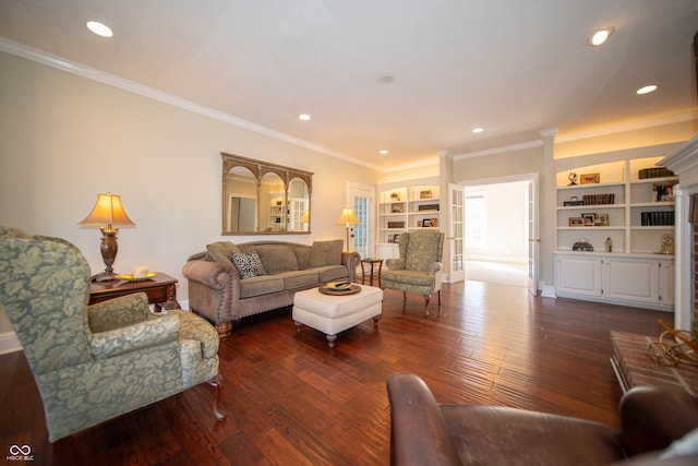
[{"label": "right arm of the brown leather armchair in foreground", "polygon": [[635,387],[621,401],[621,426],[628,456],[665,449],[698,427],[698,397],[681,386]]}]

